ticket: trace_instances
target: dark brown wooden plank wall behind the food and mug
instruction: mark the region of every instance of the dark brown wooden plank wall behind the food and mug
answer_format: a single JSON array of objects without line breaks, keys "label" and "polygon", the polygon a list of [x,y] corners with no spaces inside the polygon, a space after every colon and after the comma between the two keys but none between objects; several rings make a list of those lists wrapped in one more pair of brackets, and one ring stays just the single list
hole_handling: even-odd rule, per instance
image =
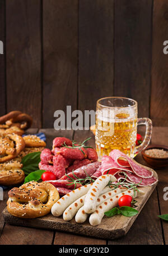
[{"label": "dark brown wooden plank wall behind the food and mug", "polygon": [[53,128],[55,110],[125,96],[168,125],[167,13],[167,0],[0,0],[0,114]]}]

